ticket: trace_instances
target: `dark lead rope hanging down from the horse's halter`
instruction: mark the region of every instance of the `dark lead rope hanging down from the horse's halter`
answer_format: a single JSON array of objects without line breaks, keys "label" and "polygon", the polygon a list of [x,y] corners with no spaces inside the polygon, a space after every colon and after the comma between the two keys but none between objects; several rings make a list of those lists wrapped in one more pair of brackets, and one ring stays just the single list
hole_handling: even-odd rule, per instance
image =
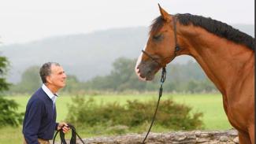
[{"label": "dark lead rope hanging down from the horse's halter", "polygon": [[[149,133],[150,133],[151,127],[154,124],[154,120],[155,120],[155,117],[156,117],[157,112],[158,112],[158,105],[159,105],[159,102],[160,102],[160,99],[161,99],[161,94],[162,94],[162,91],[163,91],[162,85],[165,82],[165,78],[166,78],[166,69],[165,69],[165,67],[163,67],[162,70],[161,70],[161,80],[160,80],[160,88],[159,88],[159,94],[158,94],[158,104],[157,104],[157,107],[156,107],[156,109],[154,111],[154,116],[152,118],[152,121],[151,121],[151,124],[150,124],[150,128],[147,131],[147,135],[149,135]],[[147,135],[143,139],[143,144],[145,143],[145,141],[147,139]]]}]

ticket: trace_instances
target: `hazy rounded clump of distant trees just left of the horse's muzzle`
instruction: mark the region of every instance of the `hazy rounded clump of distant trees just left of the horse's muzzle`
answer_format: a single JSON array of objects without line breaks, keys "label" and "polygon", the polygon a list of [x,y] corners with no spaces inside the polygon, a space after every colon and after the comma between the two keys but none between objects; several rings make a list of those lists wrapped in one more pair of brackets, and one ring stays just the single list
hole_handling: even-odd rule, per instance
[{"label": "hazy rounded clump of distant trees just left of the horse's muzzle", "polygon": [[96,76],[85,83],[84,87],[92,90],[145,90],[147,83],[139,81],[134,67],[135,60],[125,57],[117,58],[108,76]]}]

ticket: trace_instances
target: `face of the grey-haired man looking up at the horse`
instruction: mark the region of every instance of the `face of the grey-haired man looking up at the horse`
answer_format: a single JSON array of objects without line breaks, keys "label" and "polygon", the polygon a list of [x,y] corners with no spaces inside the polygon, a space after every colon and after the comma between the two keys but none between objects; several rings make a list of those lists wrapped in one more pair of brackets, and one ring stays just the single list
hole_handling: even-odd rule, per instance
[{"label": "face of the grey-haired man looking up at the horse", "polygon": [[60,89],[62,87],[65,87],[65,79],[67,76],[65,75],[65,72],[61,66],[58,65],[51,65],[51,74],[49,76],[49,83],[53,87],[56,87],[57,89]]}]

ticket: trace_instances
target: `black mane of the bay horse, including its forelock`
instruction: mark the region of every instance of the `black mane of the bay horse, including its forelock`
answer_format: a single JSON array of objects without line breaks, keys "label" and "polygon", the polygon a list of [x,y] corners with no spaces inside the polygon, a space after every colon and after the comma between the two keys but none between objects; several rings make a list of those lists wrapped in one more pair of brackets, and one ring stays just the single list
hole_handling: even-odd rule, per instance
[{"label": "black mane of the bay horse, including its forelock", "polygon": [[[239,31],[236,28],[232,28],[232,26],[222,23],[218,20],[213,20],[210,17],[202,17],[202,16],[196,16],[191,15],[190,13],[185,14],[176,14],[177,20],[180,22],[180,24],[188,25],[193,24],[195,26],[202,27],[206,29],[206,31],[209,31],[213,33],[214,35],[220,36],[222,38],[231,40],[232,42],[236,42],[242,45],[247,46],[251,50],[254,50],[254,38],[250,35],[247,35],[246,33]],[[151,31],[150,34],[155,33],[156,31],[159,31],[159,29],[163,26],[164,20],[160,17],[157,17],[153,24],[151,24]]]}]

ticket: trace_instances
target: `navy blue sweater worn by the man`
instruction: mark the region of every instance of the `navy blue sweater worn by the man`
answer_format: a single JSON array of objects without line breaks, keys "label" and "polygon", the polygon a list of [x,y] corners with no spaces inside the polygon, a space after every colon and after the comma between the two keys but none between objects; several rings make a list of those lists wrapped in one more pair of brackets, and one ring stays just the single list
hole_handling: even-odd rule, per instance
[{"label": "navy blue sweater worn by the man", "polygon": [[28,101],[22,130],[24,138],[28,144],[39,144],[38,138],[52,139],[57,127],[53,101],[41,87]]}]

